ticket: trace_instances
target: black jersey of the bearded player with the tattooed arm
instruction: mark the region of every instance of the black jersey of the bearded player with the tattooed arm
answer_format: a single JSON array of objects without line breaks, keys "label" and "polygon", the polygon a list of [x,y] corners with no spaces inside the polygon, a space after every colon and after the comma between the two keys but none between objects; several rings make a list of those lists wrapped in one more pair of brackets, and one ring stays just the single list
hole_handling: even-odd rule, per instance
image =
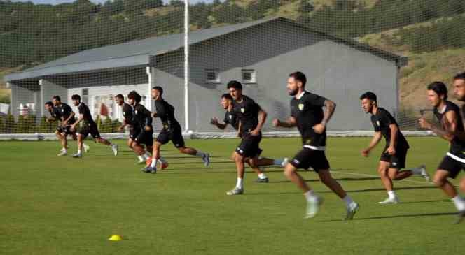
[{"label": "black jersey of the bearded player with the tattooed arm", "polygon": [[326,130],[319,134],[313,129],[314,125],[323,120],[324,101],[326,99],[323,96],[310,92],[303,92],[300,99],[294,97],[291,100],[291,116],[296,119],[303,145],[312,146],[315,150],[326,146]]}]

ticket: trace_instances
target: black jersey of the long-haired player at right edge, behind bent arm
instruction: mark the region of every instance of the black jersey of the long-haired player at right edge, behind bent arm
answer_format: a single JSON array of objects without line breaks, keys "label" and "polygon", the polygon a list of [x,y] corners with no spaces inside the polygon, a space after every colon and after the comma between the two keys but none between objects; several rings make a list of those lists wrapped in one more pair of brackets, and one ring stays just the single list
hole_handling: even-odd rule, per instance
[{"label": "black jersey of the long-haired player at right edge, behind bent arm", "polygon": [[[464,123],[462,122],[462,119],[461,119],[460,108],[455,103],[452,103],[451,101],[445,101],[445,109],[443,110],[443,112],[439,112],[438,108],[434,108],[433,112],[434,112],[434,115],[436,115],[436,118],[438,119],[438,121],[441,124],[443,124],[443,117],[445,116],[445,113],[450,110],[455,112],[455,115],[457,115],[457,131],[463,132]],[[457,136],[454,136],[454,139],[452,139],[452,141],[450,142],[449,152],[461,158],[465,158],[465,155],[464,155],[465,142],[460,140]]]}]

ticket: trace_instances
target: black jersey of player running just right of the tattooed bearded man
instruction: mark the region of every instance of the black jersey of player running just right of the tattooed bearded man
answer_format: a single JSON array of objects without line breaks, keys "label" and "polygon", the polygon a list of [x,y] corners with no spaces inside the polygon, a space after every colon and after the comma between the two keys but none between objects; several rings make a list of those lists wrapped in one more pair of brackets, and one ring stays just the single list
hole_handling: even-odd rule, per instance
[{"label": "black jersey of player running just right of the tattooed bearded man", "polygon": [[396,119],[392,117],[391,113],[389,113],[384,108],[378,108],[376,115],[371,115],[371,123],[375,128],[375,132],[381,132],[382,136],[386,139],[386,146],[389,146],[391,142],[391,128],[389,128],[390,124],[395,124],[397,126],[397,136],[396,136],[396,148],[401,149],[408,149],[409,145],[407,139],[403,136],[401,129],[399,129]]}]

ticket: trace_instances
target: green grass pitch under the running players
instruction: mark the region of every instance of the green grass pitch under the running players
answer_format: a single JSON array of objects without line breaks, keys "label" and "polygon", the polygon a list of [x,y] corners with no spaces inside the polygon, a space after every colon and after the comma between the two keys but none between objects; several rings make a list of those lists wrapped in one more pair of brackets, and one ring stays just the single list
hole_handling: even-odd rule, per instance
[{"label": "green grass pitch under the running players", "polygon": [[[394,182],[398,205],[378,205],[387,194],[377,178],[380,150],[360,156],[370,138],[329,138],[333,176],[361,205],[341,221],[345,205],[312,172],[300,172],[325,203],[303,219],[305,200],[282,168],[267,168],[270,183],[255,183],[247,169],[245,194],[228,161],[238,140],[186,140],[211,153],[211,166],[176,152],[162,155],[169,168],[141,173],[118,140],[120,154],[91,145],[83,159],[59,157],[50,142],[0,143],[0,254],[460,254],[465,223],[453,225],[455,208],[431,183],[412,177]],[[447,151],[439,138],[408,138],[408,166],[428,172]],[[266,138],[263,156],[293,156],[299,138]],[[70,143],[75,152],[76,143]],[[459,177],[463,177],[461,174]],[[459,180],[459,179],[457,179]],[[455,180],[454,183],[458,184]],[[123,235],[120,242],[107,240]]]}]

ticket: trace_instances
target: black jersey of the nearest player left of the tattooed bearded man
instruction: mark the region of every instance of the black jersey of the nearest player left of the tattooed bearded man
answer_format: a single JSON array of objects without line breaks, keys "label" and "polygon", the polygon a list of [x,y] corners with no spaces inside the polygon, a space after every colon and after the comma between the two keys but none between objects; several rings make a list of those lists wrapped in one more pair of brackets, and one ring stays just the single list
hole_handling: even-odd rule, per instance
[{"label": "black jersey of the nearest player left of the tattooed bearded man", "polygon": [[255,103],[254,99],[249,96],[242,96],[242,101],[234,101],[232,113],[236,115],[241,122],[241,132],[247,133],[256,129],[258,125],[258,112],[261,111],[260,105]]}]

